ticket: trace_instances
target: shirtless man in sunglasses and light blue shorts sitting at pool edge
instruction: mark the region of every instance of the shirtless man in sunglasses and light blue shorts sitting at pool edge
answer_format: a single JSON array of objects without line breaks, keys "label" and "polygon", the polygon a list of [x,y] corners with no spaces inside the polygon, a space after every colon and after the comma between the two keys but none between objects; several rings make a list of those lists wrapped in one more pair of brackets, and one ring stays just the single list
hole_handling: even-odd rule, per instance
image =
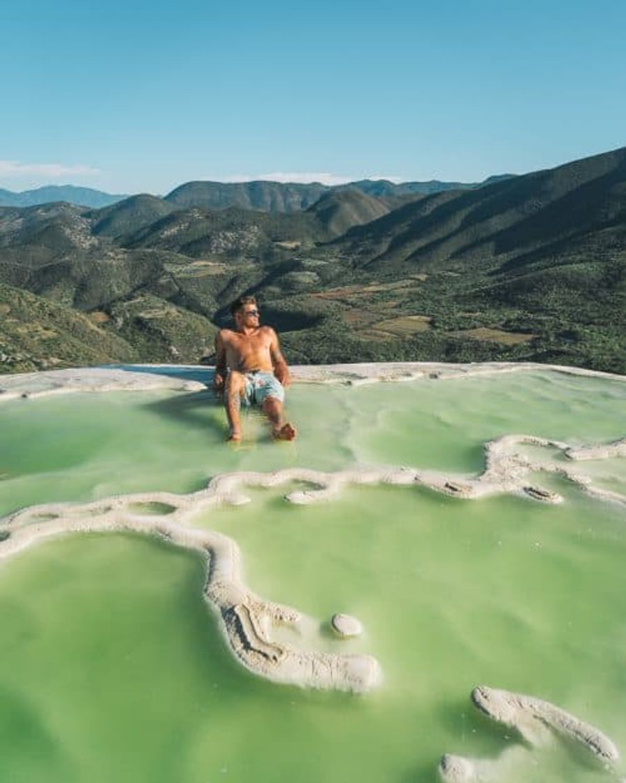
[{"label": "shirtless man in sunglasses and light blue shorts sitting at pool edge", "polygon": [[239,297],[231,305],[236,329],[221,329],[215,337],[214,388],[225,393],[228,440],[241,440],[239,406],[256,402],[272,425],[278,440],[293,440],[296,429],[282,416],[284,387],[289,386],[289,368],[272,327],[259,326],[259,310],[254,297]]}]

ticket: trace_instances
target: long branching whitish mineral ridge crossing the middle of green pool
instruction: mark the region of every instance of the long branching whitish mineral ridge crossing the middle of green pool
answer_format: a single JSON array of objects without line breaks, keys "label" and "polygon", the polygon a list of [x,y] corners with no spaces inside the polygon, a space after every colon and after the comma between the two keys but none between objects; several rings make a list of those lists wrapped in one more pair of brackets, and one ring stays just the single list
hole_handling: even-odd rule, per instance
[{"label": "long branching whitish mineral ridge crossing the middle of green pool", "polygon": [[[568,472],[562,464],[531,461],[513,450],[528,443],[550,446],[563,453],[570,449],[567,443],[527,435],[506,435],[487,443],[486,467],[477,477],[459,478],[409,467],[336,473],[305,468],[269,474],[241,471],[218,476],[207,489],[189,495],[142,493],[93,503],[49,503],[30,507],[0,520],[0,559],[16,554],[38,540],[68,532],[132,530],[162,536],[177,546],[196,550],[206,558],[205,597],[218,610],[232,651],[244,666],[277,682],[367,691],[380,679],[380,667],[369,655],[300,651],[272,640],[272,623],[294,623],[300,615],[293,609],[263,601],[248,590],[241,581],[236,543],[218,533],[193,528],[189,524],[192,518],[219,503],[247,503],[249,498],[243,493],[246,486],[267,488],[292,482],[307,483],[311,489],[299,489],[286,495],[291,503],[329,499],[348,483],[422,484],[437,492],[466,499],[518,493],[543,502],[559,502],[560,496],[527,482],[530,471],[562,474],[587,493],[626,504],[626,496],[595,488],[588,478]],[[156,510],[161,513],[155,513]]]}]

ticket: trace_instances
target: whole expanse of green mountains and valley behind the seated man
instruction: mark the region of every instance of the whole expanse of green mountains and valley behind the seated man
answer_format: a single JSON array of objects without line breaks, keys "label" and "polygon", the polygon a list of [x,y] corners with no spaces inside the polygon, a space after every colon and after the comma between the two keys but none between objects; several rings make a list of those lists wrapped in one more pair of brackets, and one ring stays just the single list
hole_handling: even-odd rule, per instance
[{"label": "whole expanse of green mountains and valley behind the seated man", "polygon": [[254,294],[294,363],[626,373],[626,148],[430,193],[313,187],[0,207],[0,370],[196,362]]}]

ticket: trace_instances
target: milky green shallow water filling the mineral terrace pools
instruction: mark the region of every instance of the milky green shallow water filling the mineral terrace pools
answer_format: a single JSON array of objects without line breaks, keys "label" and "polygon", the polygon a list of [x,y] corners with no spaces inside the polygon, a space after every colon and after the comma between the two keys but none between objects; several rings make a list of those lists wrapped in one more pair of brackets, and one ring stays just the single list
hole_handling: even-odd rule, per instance
[{"label": "milky green shallow water filling the mineral terrace pools", "polygon": [[[473,474],[499,435],[621,437],[625,403],[626,384],[552,372],[302,385],[289,398],[296,444],[269,442],[249,415],[232,449],[208,393],[16,400],[0,408],[0,514],[189,492],[224,471],[406,464]],[[575,465],[617,489],[624,463]],[[68,536],[0,563],[3,779],[430,783],[443,752],[522,747],[470,705],[477,684],[554,702],[624,751],[626,518],[561,478],[534,480],[564,502],[382,486],[298,507],[282,488],[198,515],[239,543],[257,594],[307,615],[302,637],[283,632],[290,640],[379,659],[382,686],[358,697],[246,672],[202,600],[202,563],[164,543]],[[356,615],[364,636],[333,639],[333,612]],[[616,778],[556,743],[522,750],[497,779]]]}]

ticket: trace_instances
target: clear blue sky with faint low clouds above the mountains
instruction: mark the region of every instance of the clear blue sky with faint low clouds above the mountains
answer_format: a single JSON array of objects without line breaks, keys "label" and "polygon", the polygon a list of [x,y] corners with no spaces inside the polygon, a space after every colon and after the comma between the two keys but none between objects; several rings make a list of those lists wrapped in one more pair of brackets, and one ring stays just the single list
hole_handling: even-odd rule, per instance
[{"label": "clear blue sky with faint low clouds above the mountains", "polygon": [[23,0],[0,187],[478,181],[626,144],[626,3]]}]

